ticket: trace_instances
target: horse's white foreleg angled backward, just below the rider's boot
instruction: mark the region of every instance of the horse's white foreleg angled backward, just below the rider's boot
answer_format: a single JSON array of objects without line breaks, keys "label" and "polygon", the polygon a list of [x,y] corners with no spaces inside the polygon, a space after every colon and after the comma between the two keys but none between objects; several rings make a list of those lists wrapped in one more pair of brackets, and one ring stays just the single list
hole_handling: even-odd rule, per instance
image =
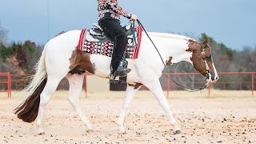
[{"label": "horse's white foreleg angled backward, just below the rider's boot", "polygon": [[130,105],[130,102],[134,98],[134,95],[138,92],[138,90],[141,88],[141,86],[134,87],[134,86],[127,86],[126,89],[126,98],[122,103],[122,110],[118,118],[118,126],[120,130],[120,134],[126,134],[125,127],[123,126],[126,110],[128,109],[128,106]]}]

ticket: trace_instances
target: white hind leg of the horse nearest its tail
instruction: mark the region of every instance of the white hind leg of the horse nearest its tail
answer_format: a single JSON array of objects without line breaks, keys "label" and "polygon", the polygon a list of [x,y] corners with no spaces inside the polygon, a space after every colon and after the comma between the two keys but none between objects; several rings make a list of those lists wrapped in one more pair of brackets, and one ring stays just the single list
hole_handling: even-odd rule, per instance
[{"label": "white hind leg of the horse nearest its tail", "polygon": [[38,134],[44,134],[42,129],[42,116],[46,109],[47,103],[50,101],[50,97],[54,94],[55,90],[58,87],[58,83],[62,80],[62,78],[47,78],[46,86],[42,90],[42,94],[40,94],[40,104],[38,109],[38,117],[36,119],[36,124],[38,126]]}]

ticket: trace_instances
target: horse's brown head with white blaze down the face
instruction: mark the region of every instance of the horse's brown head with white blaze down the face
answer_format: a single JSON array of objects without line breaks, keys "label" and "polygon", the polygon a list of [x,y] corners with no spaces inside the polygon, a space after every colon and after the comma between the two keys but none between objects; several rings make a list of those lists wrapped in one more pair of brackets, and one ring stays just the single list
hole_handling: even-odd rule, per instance
[{"label": "horse's brown head with white blaze down the face", "polygon": [[194,69],[205,76],[208,82],[216,82],[218,80],[218,74],[214,66],[208,40],[206,39],[204,42],[190,40],[188,46],[189,49],[186,51],[192,52],[190,60],[193,63]]}]

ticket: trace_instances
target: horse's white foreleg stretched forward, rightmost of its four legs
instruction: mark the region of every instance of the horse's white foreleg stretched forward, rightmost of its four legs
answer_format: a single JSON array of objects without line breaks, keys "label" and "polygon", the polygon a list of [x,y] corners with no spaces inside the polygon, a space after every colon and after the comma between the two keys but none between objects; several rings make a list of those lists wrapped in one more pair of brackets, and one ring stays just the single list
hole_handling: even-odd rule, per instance
[{"label": "horse's white foreleg stretched forward, rightmost of its four legs", "polygon": [[155,80],[150,80],[148,82],[143,83],[144,86],[146,86],[158,99],[158,102],[162,106],[162,109],[166,111],[167,117],[170,120],[170,124],[174,126],[174,134],[180,134],[181,130],[177,125],[177,122],[175,121],[174,115],[170,111],[169,104],[166,100],[166,96],[162,91],[162,86],[158,80],[158,78],[155,78]]}]

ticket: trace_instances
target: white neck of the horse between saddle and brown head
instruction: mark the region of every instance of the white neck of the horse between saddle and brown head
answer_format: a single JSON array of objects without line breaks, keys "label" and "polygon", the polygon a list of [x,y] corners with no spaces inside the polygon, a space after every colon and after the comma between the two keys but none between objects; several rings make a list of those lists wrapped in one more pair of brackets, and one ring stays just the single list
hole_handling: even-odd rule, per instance
[{"label": "white neck of the horse between saddle and brown head", "polygon": [[190,62],[191,53],[188,50],[188,41],[191,38],[177,34],[150,33],[150,37],[157,42],[158,50],[164,61],[171,57],[172,63]]}]

